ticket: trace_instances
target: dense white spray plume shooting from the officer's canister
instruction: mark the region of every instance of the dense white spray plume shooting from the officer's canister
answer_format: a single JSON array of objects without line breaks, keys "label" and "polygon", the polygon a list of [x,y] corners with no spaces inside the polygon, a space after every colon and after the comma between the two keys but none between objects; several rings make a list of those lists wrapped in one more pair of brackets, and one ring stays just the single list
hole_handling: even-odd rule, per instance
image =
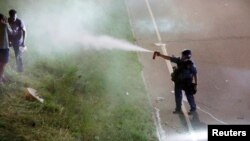
[{"label": "dense white spray plume shooting from the officer's canister", "polygon": [[[37,5],[37,3],[33,3]],[[109,35],[98,35],[95,30],[107,24],[108,14],[112,11],[112,6],[107,3],[98,5],[96,1],[70,1],[58,5],[58,1],[52,2],[50,7],[40,3],[40,8],[36,12],[36,20],[28,14],[26,19],[32,29],[30,32],[36,33],[38,45],[44,52],[51,50],[51,45],[62,46],[61,50],[74,46],[81,46],[84,49],[95,50],[124,50],[138,52],[152,52],[142,47],[134,45],[124,39],[117,39]],[[109,4],[110,5],[110,4]],[[105,8],[104,8],[105,7]],[[31,10],[34,12],[34,10]],[[115,23],[114,23],[115,24]],[[112,26],[112,25],[110,25]],[[121,33],[122,34],[122,33]],[[66,46],[65,46],[66,45]]]}]

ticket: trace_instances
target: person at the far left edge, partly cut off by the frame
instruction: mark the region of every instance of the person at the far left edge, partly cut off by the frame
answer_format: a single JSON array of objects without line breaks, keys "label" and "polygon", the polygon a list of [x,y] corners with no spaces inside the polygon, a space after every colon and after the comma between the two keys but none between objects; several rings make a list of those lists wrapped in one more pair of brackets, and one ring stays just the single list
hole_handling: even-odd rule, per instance
[{"label": "person at the far left edge, partly cut off by the frame", "polygon": [[4,68],[9,61],[8,33],[11,33],[11,29],[5,16],[0,13],[0,84],[3,84]]}]

